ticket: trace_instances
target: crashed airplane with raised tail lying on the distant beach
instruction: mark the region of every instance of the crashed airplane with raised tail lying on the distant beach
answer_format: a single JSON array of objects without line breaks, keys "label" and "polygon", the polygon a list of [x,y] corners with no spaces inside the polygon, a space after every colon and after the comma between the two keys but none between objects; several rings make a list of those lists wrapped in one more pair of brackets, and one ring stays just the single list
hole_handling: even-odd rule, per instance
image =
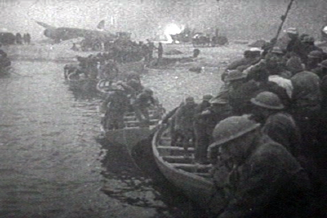
[{"label": "crashed airplane with raised tail lying on the distant beach", "polygon": [[43,34],[44,36],[51,38],[55,41],[55,43],[59,43],[63,40],[74,39],[78,37],[83,38],[97,38],[100,40],[107,40],[110,38],[115,38],[116,35],[104,30],[104,20],[101,20],[97,26],[98,30],[85,30],[85,29],[78,29],[78,28],[67,28],[67,27],[53,27],[47,25],[44,22],[35,21],[38,25],[45,28]]}]

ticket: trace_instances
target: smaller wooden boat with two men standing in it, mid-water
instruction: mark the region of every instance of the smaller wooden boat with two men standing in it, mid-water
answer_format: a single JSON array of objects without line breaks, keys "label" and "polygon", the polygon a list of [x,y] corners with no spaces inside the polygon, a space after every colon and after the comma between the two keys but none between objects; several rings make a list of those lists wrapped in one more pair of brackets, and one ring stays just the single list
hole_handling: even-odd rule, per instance
[{"label": "smaller wooden boat with two men standing in it, mid-water", "polygon": [[129,112],[124,116],[125,128],[117,130],[107,130],[104,135],[110,143],[122,144],[131,153],[136,144],[147,139],[153,132],[163,115],[163,108],[152,108],[149,110],[150,124],[142,126],[135,117],[134,112]]}]

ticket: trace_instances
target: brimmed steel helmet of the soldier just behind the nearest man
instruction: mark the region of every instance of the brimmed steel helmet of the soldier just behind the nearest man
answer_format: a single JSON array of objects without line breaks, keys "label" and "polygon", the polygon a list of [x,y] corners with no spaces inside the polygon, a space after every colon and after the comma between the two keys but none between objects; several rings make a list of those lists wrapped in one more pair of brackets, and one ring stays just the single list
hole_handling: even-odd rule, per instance
[{"label": "brimmed steel helmet of the soldier just behind the nearest man", "polygon": [[251,103],[256,106],[268,109],[281,110],[285,108],[284,105],[281,103],[279,97],[270,91],[264,91],[259,93],[255,96],[255,98],[251,99]]}]

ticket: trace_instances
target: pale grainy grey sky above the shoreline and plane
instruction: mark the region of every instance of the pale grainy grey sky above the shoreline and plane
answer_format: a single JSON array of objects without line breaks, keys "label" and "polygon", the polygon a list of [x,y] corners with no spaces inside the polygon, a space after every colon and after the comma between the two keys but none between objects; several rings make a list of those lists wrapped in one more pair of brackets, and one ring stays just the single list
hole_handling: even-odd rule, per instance
[{"label": "pale grainy grey sky above the shoreline and plane", "polygon": [[[0,0],[0,29],[30,32],[43,39],[34,20],[55,27],[95,29],[105,19],[112,32],[130,31],[137,39],[162,35],[176,23],[198,31],[219,28],[233,39],[271,38],[289,0]],[[295,0],[285,28],[319,36],[327,23],[325,0]]]}]

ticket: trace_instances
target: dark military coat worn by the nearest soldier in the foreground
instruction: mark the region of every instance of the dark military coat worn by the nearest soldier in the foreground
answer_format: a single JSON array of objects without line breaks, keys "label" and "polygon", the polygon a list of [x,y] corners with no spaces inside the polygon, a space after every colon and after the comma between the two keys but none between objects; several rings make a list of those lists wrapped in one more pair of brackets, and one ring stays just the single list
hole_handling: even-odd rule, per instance
[{"label": "dark military coat worn by the nearest soldier in the foreground", "polygon": [[[214,174],[225,198],[225,207],[217,218],[310,217],[311,184],[296,159],[281,145],[264,136],[255,142],[251,153],[244,152],[241,162],[221,150]],[[217,183],[216,183],[217,184]]]}]

